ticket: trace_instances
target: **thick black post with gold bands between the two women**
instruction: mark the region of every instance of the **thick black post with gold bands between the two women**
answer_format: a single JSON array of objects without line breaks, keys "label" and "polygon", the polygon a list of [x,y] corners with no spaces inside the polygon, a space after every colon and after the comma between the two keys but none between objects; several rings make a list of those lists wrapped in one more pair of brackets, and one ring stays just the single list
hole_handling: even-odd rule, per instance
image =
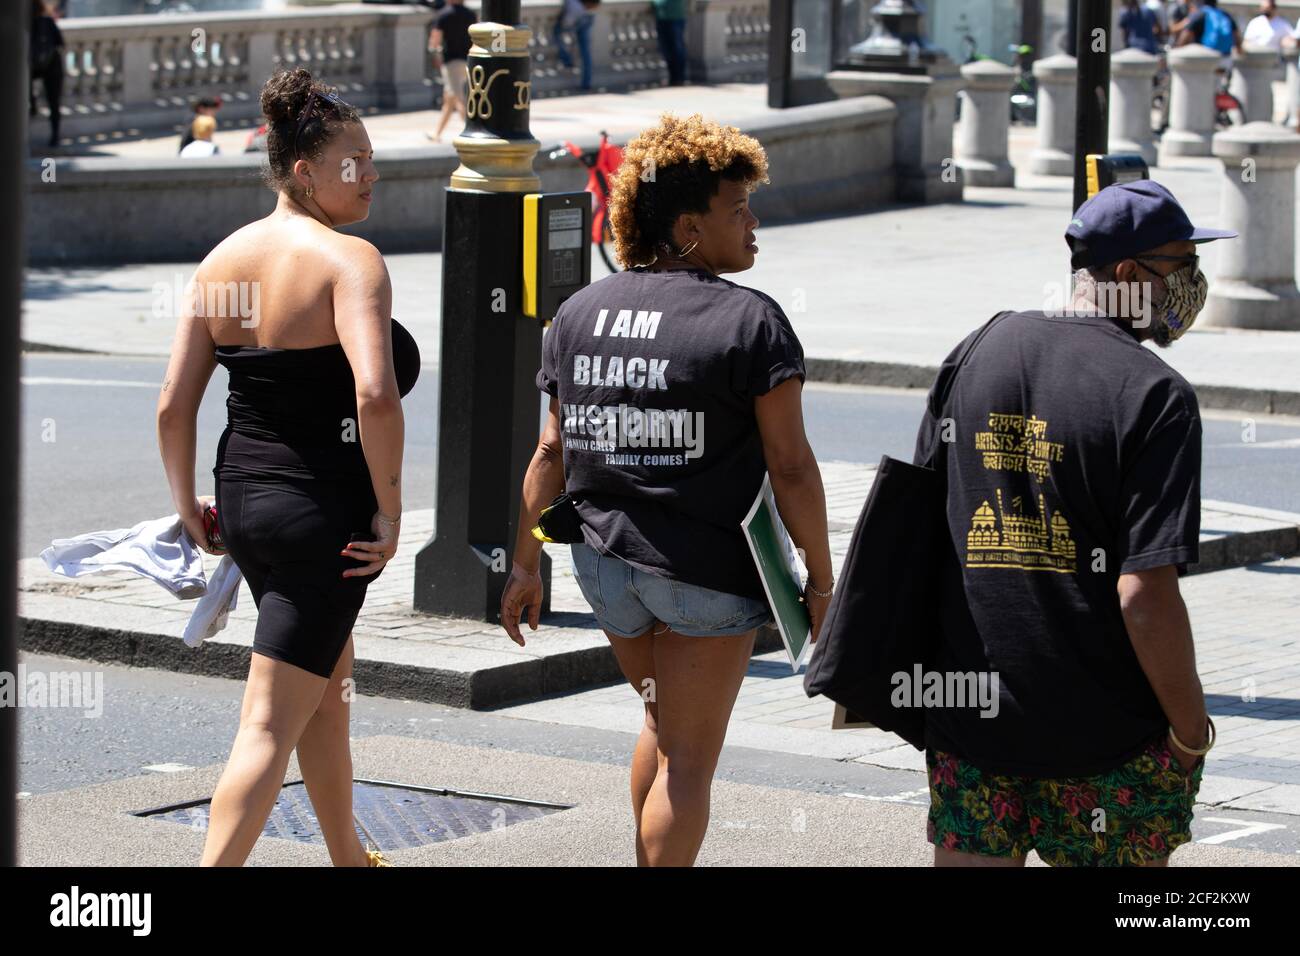
[{"label": "thick black post with gold bands between the two women", "polygon": [[[446,191],[438,488],[433,537],[416,555],[415,606],[495,622],[524,471],[537,447],[542,329],[521,307],[523,196],[541,183],[528,129],[520,0],[484,0],[469,27],[467,122]],[[550,561],[542,580],[550,610]]]}]

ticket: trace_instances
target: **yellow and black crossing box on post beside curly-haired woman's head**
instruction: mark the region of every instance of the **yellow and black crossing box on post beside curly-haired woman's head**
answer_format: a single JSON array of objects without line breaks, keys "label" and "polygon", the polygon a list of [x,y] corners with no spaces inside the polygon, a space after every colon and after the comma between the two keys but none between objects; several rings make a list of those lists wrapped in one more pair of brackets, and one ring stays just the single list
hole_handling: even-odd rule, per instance
[{"label": "yellow and black crossing box on post beside curly-haired woman's head", "polygon": [[524,196],[524,315],[550,324],[592,282],[592,194]]}]

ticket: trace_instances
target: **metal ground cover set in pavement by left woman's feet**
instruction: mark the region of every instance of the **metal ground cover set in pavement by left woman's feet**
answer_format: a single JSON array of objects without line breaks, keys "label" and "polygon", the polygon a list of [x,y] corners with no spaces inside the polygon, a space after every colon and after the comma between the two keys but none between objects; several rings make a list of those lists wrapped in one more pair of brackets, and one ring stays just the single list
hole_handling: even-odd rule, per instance
[{"label": "metal ground cover set in pavement by left woman's feet", "polygon": [[[211,800],[195,800],[139,810],[135,816],[205,830],[211,804]],[[377,844],[380,849],[406,849],[455,840],[567,809],[569,808],[564,804],[516,800],[497,793],[410,787],[387,780],[352,782],[352,814],[360,822],[358,836],[365,844]],[[280,791],[263,835],[325,844],[307,787],[300,780],[286,784]]]}]

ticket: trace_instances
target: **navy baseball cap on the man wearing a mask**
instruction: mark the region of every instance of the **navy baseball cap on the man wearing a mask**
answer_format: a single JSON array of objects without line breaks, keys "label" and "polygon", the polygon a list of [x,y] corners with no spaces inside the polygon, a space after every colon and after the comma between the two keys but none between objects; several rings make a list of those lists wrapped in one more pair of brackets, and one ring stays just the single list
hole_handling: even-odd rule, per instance
[{"label": "navy baseball cap on the man wearing a mask", "polygon": [[1070,267],[1082,269],[1134,259],[1175,239],[1232,239],[1227,229],[1192,225],[1173,193],[1152,179],[1117,182],[1080,206],[1065,230]]}]

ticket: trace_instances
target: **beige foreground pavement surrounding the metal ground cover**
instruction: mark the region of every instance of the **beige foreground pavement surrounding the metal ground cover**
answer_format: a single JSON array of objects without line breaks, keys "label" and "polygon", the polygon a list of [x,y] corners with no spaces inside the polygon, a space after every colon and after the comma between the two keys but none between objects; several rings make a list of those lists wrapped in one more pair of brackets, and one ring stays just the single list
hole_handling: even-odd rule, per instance
[{"label": "beige foreground pavement surrounding the metal ground cover", "polygon": [[[569,809],[489,832],[389,852],[398,866],[630,866],[625,766],[404,736],[352,741],[356,778],[504,793]],[[133,816],[211,797],[221,765],[147,774],[18,801],[22,866],[192,866],[202,829]],[[300,779],[296,758],[286,782]],[[1200,816],[1200,814],[1199,814]],[[1296,857],[1197,842],[1175,866],[1287,866]],[[928,866],[926,810],[731,780],[712,784],[701,866]],[[324,845],[260,839],[252,866],[328,866]],[[1031,855],[1031,866],[1043,864]]]}]

